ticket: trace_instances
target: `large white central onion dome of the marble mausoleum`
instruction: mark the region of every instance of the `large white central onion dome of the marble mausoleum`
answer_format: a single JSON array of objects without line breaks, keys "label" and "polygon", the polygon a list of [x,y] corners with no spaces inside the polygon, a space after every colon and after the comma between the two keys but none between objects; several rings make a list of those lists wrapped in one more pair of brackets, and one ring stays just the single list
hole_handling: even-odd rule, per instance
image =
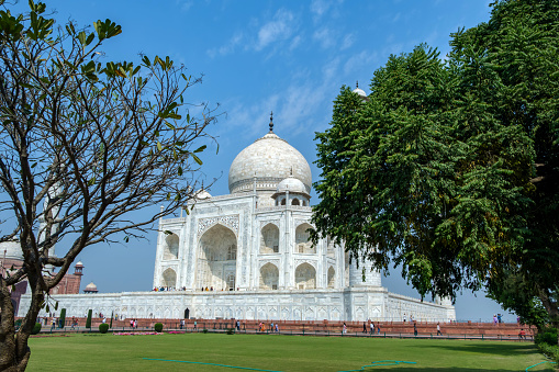
[{"label": "large white central onion dome of the marble mausoleum", "polygon": [[270,131],[242,150],[230,168],[230,192],[257,190],[276,191],[278,183],[290,176],[299,179],[311,192],[311,167],[306,159],[287,140]]}]

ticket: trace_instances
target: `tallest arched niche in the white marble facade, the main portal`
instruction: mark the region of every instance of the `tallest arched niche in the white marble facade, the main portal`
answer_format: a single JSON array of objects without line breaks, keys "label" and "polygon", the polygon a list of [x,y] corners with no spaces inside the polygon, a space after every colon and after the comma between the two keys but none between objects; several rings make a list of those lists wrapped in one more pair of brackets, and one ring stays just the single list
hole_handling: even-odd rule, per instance
[{"label": "tallest arched niche in the white marble facade, the main portal", "polygon": [[199,240],[197,288],[230,291],[235,289],[237,237],[223,225],[214,225]]}]

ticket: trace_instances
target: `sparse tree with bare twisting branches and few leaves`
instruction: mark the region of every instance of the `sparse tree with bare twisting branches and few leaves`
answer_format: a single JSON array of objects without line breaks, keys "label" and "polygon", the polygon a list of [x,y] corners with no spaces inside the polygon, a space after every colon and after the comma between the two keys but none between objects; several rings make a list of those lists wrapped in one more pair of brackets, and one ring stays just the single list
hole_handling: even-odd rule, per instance
[{"label": "sparse tree with bare twisting branches and few leaves", "polygon": [[[199,153],[215,121],[189,114],[186,76],[169,57],[101,63],[121,27],[110,20],[55,27],[43,3],[0,11],[0,190],[15,216],[0,241],[18,241],[23,266],[0,278],[0,370],[24,370],[27,339],[48,291],[85,248],[141,238],[203,188]],[[205,139],[204,139],[205,138]],[[164,203],[155,215],[128,213]],[[55,244],[68,251],[52,255]],[[55,272],[52,268],[58,268]],[[31,306],[14,330],[10,289],[27,281]]]}]

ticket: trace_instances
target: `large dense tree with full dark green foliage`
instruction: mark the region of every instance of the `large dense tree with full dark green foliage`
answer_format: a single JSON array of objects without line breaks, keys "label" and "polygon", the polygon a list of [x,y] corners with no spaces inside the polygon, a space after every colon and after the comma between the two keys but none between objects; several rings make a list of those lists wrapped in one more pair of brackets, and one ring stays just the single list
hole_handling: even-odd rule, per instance
[{"label": "large dense tree with full dark green foliage", "polygon": [[422,45],[374,72],[367,101],[351,106],[342,90],[316,135],[313,236],[378,269],[402,263],[422,296],[485,286],[500,298],[518,272],[552,315],[559,4],[492,7],[488,23],[451,35],[445,63]]}]

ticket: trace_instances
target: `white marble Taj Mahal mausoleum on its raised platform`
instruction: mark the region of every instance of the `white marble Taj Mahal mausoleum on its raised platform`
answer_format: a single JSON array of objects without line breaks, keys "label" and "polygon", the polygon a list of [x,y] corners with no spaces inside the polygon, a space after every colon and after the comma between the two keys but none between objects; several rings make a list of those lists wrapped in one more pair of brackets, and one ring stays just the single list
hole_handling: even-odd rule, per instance
[{"label": "white marble Taj Mahal mausoleum on its raised platform", "polygon": [[[456,319],[449,300],[391,293],[380,272],[358,267],[343,246],[313,245],[311,188],[309,162],[270,120],[269,132],[233,160],[228,194],[201,190],[188,214],[159,219],[154,290],[53,298],[67,317],[92,309],[122,318]],[[23,294],[19,316],[29,303]]]}]

